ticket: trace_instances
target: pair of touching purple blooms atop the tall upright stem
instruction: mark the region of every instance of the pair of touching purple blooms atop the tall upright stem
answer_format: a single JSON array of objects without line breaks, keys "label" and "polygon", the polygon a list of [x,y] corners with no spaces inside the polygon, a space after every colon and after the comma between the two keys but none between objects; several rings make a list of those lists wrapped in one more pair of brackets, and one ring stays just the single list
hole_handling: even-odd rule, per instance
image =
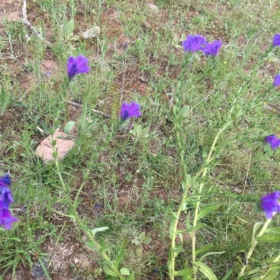
[{"label": "pair of touching purple blooms atop the tall upright stem", "polygon": [[216,57],[222,46],[222,41],[213,41],[212,43],[207,42],[207,39],[200,35],[188,35],[186,40],[182,42],[183,49],[186,52],[196,52],[197,50],[202,50],[204,55],[211,55]]}]

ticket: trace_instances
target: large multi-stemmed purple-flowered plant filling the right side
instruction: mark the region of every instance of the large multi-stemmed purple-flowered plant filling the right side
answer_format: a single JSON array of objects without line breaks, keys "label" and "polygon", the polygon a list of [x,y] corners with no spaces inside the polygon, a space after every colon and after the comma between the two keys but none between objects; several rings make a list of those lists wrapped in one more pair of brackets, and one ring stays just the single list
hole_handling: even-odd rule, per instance
[{"label": "large multi-stemmed purple-flowered plant filling the right side", "polygon": [[[207,255],[207,251],[211,246],[203,246],[202,248],[196,248],[196,235],[197,230],[200,230],[204,227],[204,225],[200,222],[200,219],[206,216],[207,214],[215,211],[218,209],[217,205],[210,205],[208,207],[201,207],[201,200],[205,199],[205,197],[209,197],[211,194],[213,195],[216,193],[216,195],[223,195],[225,197],[231,197],[233,200],[236,200],[237,202],[254,202],[258,204],[258,209],[263,211],[267,217],[267,221],[262,225],[262,228],[258,232],[258,235],[255,237],[255,233],[258,231],[258,228],[262,223],[256,223],[254,230],[253,230],[253,239],[251,242],[251,247],[248,250],[248,253],[246,253],[246,260],[249,260],[251,258],[251,255],[253,253],[253,250],[255,248],[255,245],[258,243],[258,241],[266,241],[271,240],[269,239],[269,235],[264,235],[265,232],[267,232],[267,227],[269,223],[272,221],[272,216],[280,211],[279,207],[279,197],[280,192],[276,190],[274,193],[270,193],[268,195],[265,195],[261,198],[258,197],[252,197],[250,195],[235,195],[229,192],[222,192],[221,190],[218,190],[218,188],[210,188],[209,190],[204,190],[204,184],[207,181],[207,174],[209,173],[209,169],[211,169],[212,166],[214,166],[214,160],[217,154],[218,150],[216,149],[216,144],[218,142],[218,139],[221,135],[221,133],[226,130],[230,125],[232,125],[232,112],[235,108],[235,103],[238,100],[239,94],[241,94],[242,90],[244,90],[244,85],[250,85],[253,86],[253,83],[251,80],[246,80],[246,83],[243,83],[240,85],[239,90],[235,96],[235,99],[232,103],[232,106],[229,110],[228,116],[223,121],[223,125],[221,126],[220,130],[216,133],[216,137],[214,137],[213,144],[209,150],[208,155],[204,155],[204,163],[202,165],[202,168],[200,169],[197,174],[194,176],[190,176],[188,174],[188,170],[186,168],[186,148],[183,146],[183,132],[186,130],[186,127],[183,127],[183,119],[188,116],[189,106],[183,106],[183,97],[181,94],[181,85],[182,81],[185,78],[185,74],[188,71],[188,65],[190,62],[193,61],[193,54],[195,52],[202,51],[204,55],[211,56],[215,58],[218,55],[218,52],[221,50],[222,41],[215,40],[212,43],[207,42],[207,39],[204,38],[202,35],[188,35],[186,40],[183,41],[183,50],[186,52],[186,55],[183,59],[182,63],[182,71],[178,78],[178,83],[175,91],[175,97],[174,97],[174,125],[176,130],[176,141],[177,146],[179,150],[180,160],[181,160],[181,171],[182,171],[182,189],[183,189],[183,195],[181,203],[179,204],[179,207],[176,212],[172,211],[172,220],[170,223],[170,238],[171,238],[171,248],[169,251],[169,279],[174,280],[177,276],[183,276],[184,279],[197,279],[197,273],[200,271],[200,273],[204,274],[204,276],[207,277],[207,279],[217,279],[214,272],[211,270],[210,267],[208,267],[205,263],[202,262],[202,259],[204,256]],[[265,59],[269,52],[272,52],[274,48],[280,46],[280,34],[275,34],[274,38],[272,40],[272,45],[270,45],[267,48],[267,51],[262,55],[262,59]],[[258,62],[257,66],[260,65],[260,62]],[[216,65],[218,66],[218,65]],[[255,67],[256,68],[256,67]],[[255,69],[254,69],[255,71]],[[273,87],[278,87],[280,85],[280,74],[277,75],[274,78]],[[270,85],[271,86],[271,85]],[[267,144],[270,144],[272,149],[277,148],[280,146],[280,139],[278,139],[274,134],[271,134],[267,137],[265,137],[265,141]],[[192,193],[192,195],[190,195]],[[189,209],[192,209],[192,205],[194,205],[195,210],[194,212],[191,212]],[[179,224],[179,218],[182,214],[182,212],[187,210],[187,217],[186,217],[186,229],[178,229]],[[192,218],[190,218],[192,217]],[[189,258],[187,256],[186,259],[186,267],[183,269],[177,269],[176,265],[176,258],[178,255],[182,252],[185,252],[183,248],[183,233],[189,232],[190,237],[192,239],[192,250],[191,255],[192,257]],[[274,232],[278,233],[277,241],[280,241],[280,230],[274,230]],[[178,237],[178,238],[177,238]],[[180,240],[180,241],[176,241]],[[275,237],[274,237],[275,240]],[[186,253],[186,252],[185,252]],[[204,253],[199,259],[197,259],[197,255]],[[214,255],[215,253],[223,253],[223,252],[212,252],[211,254]],[[191,262],[190,262],[191,259]],[[274,258],[273,262],[276,262],[280,259],[279,257]],[[243,280],[246,278],[248,274],[255,274],[259,273],[259,270],[250,270],[246,271],[247,269],[247,263],[244,264],[241,267],[241,272],[239,272],[238,279]],[[262,276],[261,279],[265,279],[263,277],[267,276],[269,272],[273,270],[273,265],[271,268],[269,268],[267,272]],[[274,270],[275,271],[275,270]],[[223,280],[229,279],[230,275],[232,274],[233,269],[225,273],[225,276],[223,277]]]}]

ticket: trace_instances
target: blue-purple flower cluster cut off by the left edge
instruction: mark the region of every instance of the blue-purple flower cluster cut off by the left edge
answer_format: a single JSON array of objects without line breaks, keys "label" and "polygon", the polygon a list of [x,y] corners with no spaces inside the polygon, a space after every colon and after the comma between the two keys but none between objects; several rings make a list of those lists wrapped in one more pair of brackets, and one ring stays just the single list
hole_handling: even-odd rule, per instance
[{"label": "blue-purple flower cluster cut off by the left edge", "polygon": [[13,202],[12,193],[10,193],[10,177],[8,174],[0,178],[0,227],[10,230],[13,223],[18,221],[18,218],[15,218],[10,214],[10,204]]}]

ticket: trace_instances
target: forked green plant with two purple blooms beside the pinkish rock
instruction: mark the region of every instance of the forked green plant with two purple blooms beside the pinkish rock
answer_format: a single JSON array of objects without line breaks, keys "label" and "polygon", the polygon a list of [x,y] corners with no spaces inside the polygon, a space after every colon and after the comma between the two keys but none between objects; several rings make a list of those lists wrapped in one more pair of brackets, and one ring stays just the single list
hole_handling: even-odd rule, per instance
[{"label": "forked green plant with two purple blooms beside the pinkish rock", "polygon": [[[62,84],[62,91],[64,92],[64,94],[62,94],[62,97],[64,99],[66,98],[66,90],[69,86],[71,86],[71,83],[73,83],[74,77],[78,76],[78,74],[85,74],[90,71],[90,66],[88,66],[88,62],[89,59],[87,59],[87,57],[84,57],[83,55],[78,55],[78,57],[69,57],[67,63],[67,76],[64,79],[64,83]],[[117,125],[114,124],[112,125],[112,131],[111,133],[108,133],[107,136],[109,137],[105,139],[105,143],[102,144],[102,148],[104,148],[106,144],[109,144],[109,141],[113,139],[114,135],[118,130],[125,127],[125,125],[130,120],[130,118],[140,117],[141,116],[140,110],[141,110],[141,106],[137,102],[132,101],[131,104],[123,103],[120,108],[120,118],[117,121]],[[109,254],[106,253],[109,247],[106,246],[104,239],[102,237],[99,237],[98,241],[95,239],[95,235],[97,234],[97,232],[102,232],[104,230],[107,230],[108,227],[90,229],[87,226],[87,223],[83,221],[83,219],[80,218],[78,214],[77,207],[79,203],[79,195],[83,190],[83,187],[85,186],[86,178],[91,169],[89,168],[85,171],[86,174],[85,179],[81,183],[80,188],[78,188],[78,191],[75,197],[73,198],[73,196],[70,194],[71,190],[69,191],[69,188],[67,188],[66,183],[64,183],[64,179],[62,178],[62,172],[60,171],[60,164],[55,151],[55,143],[52,145],[52,147],[54,151],[53,155],[55,158],[55,166],[56,166],[57,174],[59,176],[59,181],[62,185],[62,190],[64,193],[64,199],[62,199],[61,201],[63,201],[63,203],[69,207],[71,215],[64,214],[60,211],[57,211],[56,209],[52,209],[52,211],[54,211],[55,213],[61,216],[66,216],[68,218],[71,218],[73,221],[76,221],[80,230],[83,230],[83,232],[89,239],[90,246],[94,246],[97,249],[99,255],[101,255],[102,258],[104,259],[104,263],[105,263],[104,272],[107,275],[118,277],[119,279],[134,280],[134,272],[130,273],[127,268],[120,269],[119,267],[120,262],[123,260],[123,257],[125,256],[125,249],[121,249],[118,252],[118,255],[116,256],[116,259],[111,260]],[[92,159],[92,162],[94,162],[94,159]],[[92,164],[92,162],[90,164]],[[57,203],[59,203],[59,201],[57,201]]]}]

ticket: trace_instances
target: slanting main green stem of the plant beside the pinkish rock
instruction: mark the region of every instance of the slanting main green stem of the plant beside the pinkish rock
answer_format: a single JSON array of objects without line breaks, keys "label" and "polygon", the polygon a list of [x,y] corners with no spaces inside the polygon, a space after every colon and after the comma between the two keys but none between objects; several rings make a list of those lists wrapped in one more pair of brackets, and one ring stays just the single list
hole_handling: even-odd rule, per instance
[{"label": "slanting main green stem of the plant beside the pinkish rock", "polygon": [[[66,193],[66,187],[65,187],[64,181],[62,179],[62,174],[59,170],[59,164],[58,164],[57,158],[55,158],[55,166],[57,167],[57,174],[59,176],[60,183],[62,184],[64,193]],[[83,184],[82,184],[82,186],[83,186]],[[79,190],[81,190],[81,189],[82,188],[80,188]],[[68,201],[68,204],[71,209],[71,213],[73,214],[73,218],[76,219],[76,222],[78,223],[79,227],[83,230],[83,232],[85,232],[85,235],[87,235],[88,239],[90,239],[92,244],[94,244],[94,246],[98,249],[99,253],[101,253],[104,260],[106,260],[106,262],[109,262],[111,268],[113,269],[113,272],[116,273],[116,275],[119,277],[119,279],[125,280],[125,277],[118,271],[118,268],[113,264],[112,260],[109,258],[109,255],[107,255],[104,251],[101,250],[102,247],[99,245],[99,243],[97,241],[95,241],[92,234],[85,229],[85,226],[83,225],[83,221],[80,220],[80,216],[78,215],[76,208],[74,207],[74,204],[70,200]]]}]

